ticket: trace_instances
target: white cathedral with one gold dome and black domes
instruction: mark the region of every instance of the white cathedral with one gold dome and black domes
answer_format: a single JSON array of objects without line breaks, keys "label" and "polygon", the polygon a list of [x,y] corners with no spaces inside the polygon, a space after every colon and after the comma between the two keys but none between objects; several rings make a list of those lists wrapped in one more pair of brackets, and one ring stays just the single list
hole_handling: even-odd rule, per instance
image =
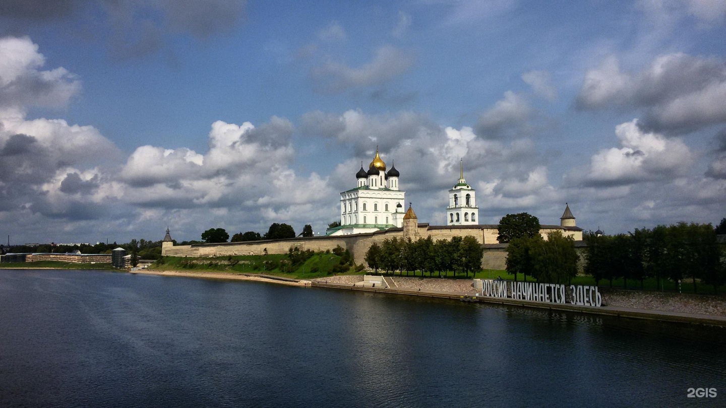
[{"label": "white cathedral with one gold dome and black domes", "polygon": [[356,173],[357,186],[340,193],[340,227],[327,230],[327,235],[348,235],[403,227],[403,205],[406,192],[399,190],[396,166],[386,173],[386,163],[378,148],[368,171]]}]

